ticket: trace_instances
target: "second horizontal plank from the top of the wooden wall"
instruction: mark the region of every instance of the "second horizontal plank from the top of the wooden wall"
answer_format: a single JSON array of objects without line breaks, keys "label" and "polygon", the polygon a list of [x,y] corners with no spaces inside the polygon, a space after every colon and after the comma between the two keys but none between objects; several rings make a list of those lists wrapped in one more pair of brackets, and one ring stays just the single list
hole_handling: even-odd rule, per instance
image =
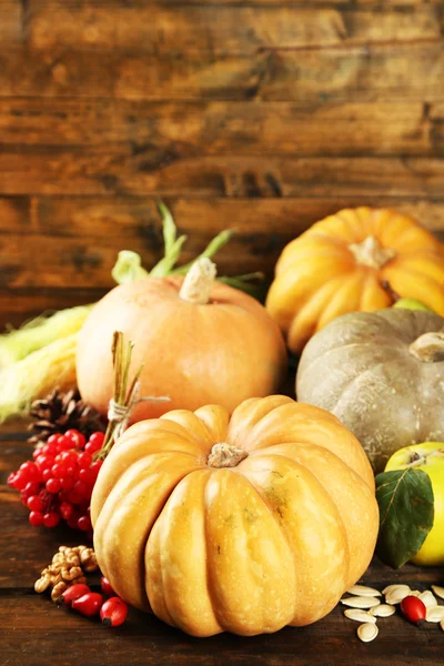
[{"label": "second horizontal plank from the top of the wooden wall", "polygon": [[0,49],[0,97],[443,101],[436,43],[263,49],[251,57]]}]

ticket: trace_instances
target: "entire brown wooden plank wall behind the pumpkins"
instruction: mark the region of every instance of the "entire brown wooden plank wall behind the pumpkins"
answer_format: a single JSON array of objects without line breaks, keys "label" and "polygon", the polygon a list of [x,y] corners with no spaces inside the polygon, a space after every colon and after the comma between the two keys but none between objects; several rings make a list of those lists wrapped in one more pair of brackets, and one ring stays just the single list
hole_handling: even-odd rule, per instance
[{"label": "entire brown wooden plank wall behind the pumpkins", "polygon": [[239,230],[265,270],[341,206],[444,230],[444,1],[0,0],[0,312],[90,302],[117,252]]}]

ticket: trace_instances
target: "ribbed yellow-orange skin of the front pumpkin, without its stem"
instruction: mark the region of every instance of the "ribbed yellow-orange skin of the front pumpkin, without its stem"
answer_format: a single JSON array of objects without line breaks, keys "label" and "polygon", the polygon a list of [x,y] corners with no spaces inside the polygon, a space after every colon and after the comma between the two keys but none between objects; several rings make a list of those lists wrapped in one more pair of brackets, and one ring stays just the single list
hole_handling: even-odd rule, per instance
[{"label": "ribbed yellow-orange skin of the front pumpkin, without its stem", "polygon": [[[238,466],[206,464],[225,442]],[[131,426],[97,481],[103,575],[133,606],[193,636],[245,636],[326,615],[366,569],[379,513],[357,440],[275,395]]]}]

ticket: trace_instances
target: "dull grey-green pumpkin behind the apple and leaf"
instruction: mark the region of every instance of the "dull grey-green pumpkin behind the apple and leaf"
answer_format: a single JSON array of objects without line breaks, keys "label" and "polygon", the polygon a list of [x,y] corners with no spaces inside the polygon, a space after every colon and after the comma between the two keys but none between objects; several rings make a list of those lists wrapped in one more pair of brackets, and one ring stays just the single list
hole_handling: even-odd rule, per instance
[{"label": "dull grey-green pumpkin behind the apple and leaf", "polygon": [[305,346],[297,400],[335,414],[376,472],[408,444],[444,441],[444,319],[413,310],[353,312]]}]

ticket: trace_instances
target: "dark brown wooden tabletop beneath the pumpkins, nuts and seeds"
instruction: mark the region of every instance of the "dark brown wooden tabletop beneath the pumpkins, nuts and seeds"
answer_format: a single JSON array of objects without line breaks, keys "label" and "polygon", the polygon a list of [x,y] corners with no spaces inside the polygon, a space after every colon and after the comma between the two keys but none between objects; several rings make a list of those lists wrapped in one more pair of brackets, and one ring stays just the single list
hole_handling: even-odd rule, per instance
[{"label": "dark brown wooden tabletop beneath the pumpkins, nuts and seeds", "polygon": [[[192,638],[153,616],[131,612],[120,628],[60,609],[33,591],[40,571],[59,545],[78,545],[80,533],[31,527],[18,493],[7,486],[10,471],[29,457],[23,426],[0,430],[0,666],[437,666],[444,662],[444,632],[438,625],[416,628],[398,614],[379,620],[380,635],[369,644],[356,637],[356,623],[336,607],[305,628],[243,638],[219,635]],[[91,578],[98,582],[98,576]],[[402,582],[425,589],[444,584],[444,569],[412,565],[393,572],[374,562],[364,582],[382,589]]]}]

